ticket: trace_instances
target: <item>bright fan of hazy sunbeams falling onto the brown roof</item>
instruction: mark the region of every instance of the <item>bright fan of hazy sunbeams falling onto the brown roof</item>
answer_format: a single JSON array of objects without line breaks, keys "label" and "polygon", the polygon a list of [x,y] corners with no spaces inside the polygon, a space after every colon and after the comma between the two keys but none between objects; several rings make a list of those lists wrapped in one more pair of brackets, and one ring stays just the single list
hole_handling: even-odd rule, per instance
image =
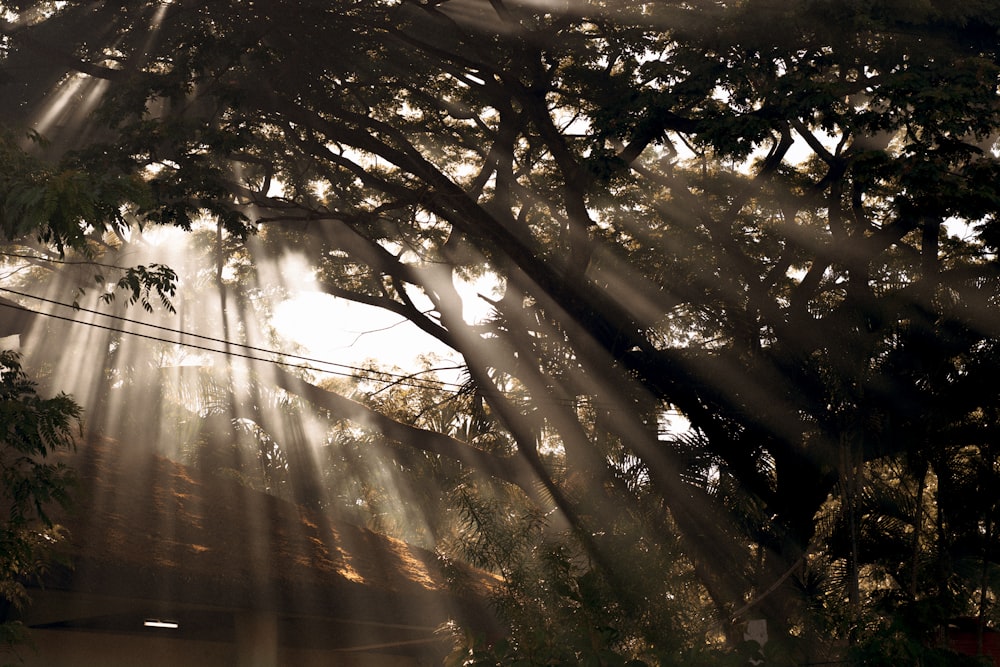
[{"label": "bright fan of hazy sunbeams falling onto the brown roof", "polygon": [[[281,313],[283,300],[303,287],[301,271],[290,270],[297,260],[293,256],[255,260],[260,287],[250,290],[249,299],[238,300],[232,290],[220,290],[215,284],[221,275],[213,266],[218,258],[211,246],[206,252],[194,245],[196,238],[134,229],[100,257],[104,267],[84,263],[75,272],[25,277],[23,288],[47,300],[35,302],[32,310],[65,318],[39,317],[23,333],[26,359],[36,368],[48,369],[47,383],[73,393],[85,408],[91,433],[74,459],[91,503],[86,511],[90,520],[70,522],[74,544],[103,545],[101,549],[113,554],[106,561],[77,555],[74,576],[96,585],[107,576],[106,568],[114,567],[122,571],[121,587],[127,589],[132,575],[125,572],[155,571],[157,583],[145,586],[144,595],[175,602],[162,609],[155,605],[141,612],[136,609],[134,613],[153,620],[169,619],[147,628],[169,628],[183,638],[209,642],[235,637],[240,651],[254,656],[241,659],[254,661],[261,659],[262,652],[276,655],[278,640],[271,635],[278,628],[283,642],[290,635],[301,636],[310,623],[319,624],[317,631],[330,632],[332,621],[322,620],[328,615],[323,605],[329,603],[322,596],[332,594],[334,580],[342,581],[337,586],[358,587],[349,594],[356,598],[354,602],[338,603],[341,611],[336,622],[348,624],[350,630],[337,630],[319,643],[359,656],[374,651],[383,656],[379,664],[391,664],[385,660],[396,659],[391,657],[395,653],[441,651],[435,624],[453,610],[444,601],[445,575],[436,559],[430,552],[418,553],[401,541],[355,527],[367,524],[433,549],[435,541],[421,499],[414,495],[426,490],[401,483],[405,475],[392,472],[382,456],[358,447],[350,437],[332,435],[340,429],[307,410],[300,399],[270,389],[275,384],[270,379],[272,359],[253,360],[254,355],[262,356],[259,352],[251,358],[230,354],[242,349],[242,344],[258,350],[288,344],[273,334],[270,318]],[[200,238],[211,239],[211,235]],[[120,299],[105,303],[101,296],[110,276],[96,289],[87,287],[93,283],[92,272],[107,273],[107,265],[119,261],[176,266],[185,276],[172,300],[176,313],[162,309],[147,313],[126,307]],[[238,272],[237,267],[228,280],[236,280]],[[78,293],[80,287],[86,291]],[[226,297],[205,298],[211,291]],[[74,295],[78,309],[57,305]],[[223,307],[228,312],[228,331],[220,326]],[[101,313],[118,316],[111,320],[111,329],[100,328],[108,322]],[[315,319],[310,322],[317,323]],[[337,324],[336,318],[328,320],[330,327]],[[350,326],[365,325],[355,319]],[[158,340],[143,337],[150,331]],[[185,342],[193,335],[213,339],[211,349],[217,351],[186,348]],[[223,344],[224,335],[233,345]],[[59,345],[53,344],[55,339]],[[366,382],[373,383],[374,376]],[[394,380],[389,377],[383,382]],[[357,437],[377,434],[359,432]],[[348,450],[355,458],[344,458]],[[343,463],[331,466],[338,458]],[[210,493],[210,488],[227,489],[228,495]],[[294,511],[301,514],[288,514]],[[343,524],[343,517],[355,526]],[[213,533],[220,530],[219,521],[229,524],[222,536]],[[220,537],[231,544],[224,545]],[[239,557],[227,551],[234,548],[241,551]],[[223,566],[223,558],[233,560]],[[181,568],[186,573],[184,581],[221,575],[225,581],[237,582],[237,588],[253,596],[254,609],[269,611],[229,616],[221,599],[212,601],[214,611],[191,607],[191,600],[198,600],[199,605],[204,602],[173,574]],[[276,572],[283,572],[286,583],[282,586],[272,581]],[[402,607],[397,601],[388,603],[394,611],[378,613],[377,622],[362,620],[371,616],[376,604],[385,604],[375,602],[386,594],[376,589],[412,589],[444,597],[440,601],[428,597],[419,603],[419,619],[430,625],[413,624],[413,619],[399,613]],[[131,613],[123,611],[114,621],[107,616],[107,622],[124,623]],[[206,627],[209,622],[221,625],[211,630]],[[44,622],[35,625],[45,627]],[[296,660],[329,655],[319,646],[311,650],[301,649],[294,654]],[[190,659],[188,651],[183,641],[172,641],[160,659],[175,664]],[[49,655],[58,658],[58,653]]]}]

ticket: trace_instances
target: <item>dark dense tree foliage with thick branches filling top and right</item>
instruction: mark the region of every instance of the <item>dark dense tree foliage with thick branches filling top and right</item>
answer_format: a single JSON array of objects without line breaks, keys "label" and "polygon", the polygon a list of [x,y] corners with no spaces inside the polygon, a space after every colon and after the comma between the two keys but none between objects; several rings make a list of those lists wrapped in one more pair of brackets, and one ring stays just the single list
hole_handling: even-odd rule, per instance
[{"label": "dark dense tree foliage with thick branches filling top and right", "polygon": [[461,354],[450,412],[270,376],[440,476],[515,628],[457,660],[929,664],[996,612],[1000,9],[907,5],[15,2],[0,119]]}]

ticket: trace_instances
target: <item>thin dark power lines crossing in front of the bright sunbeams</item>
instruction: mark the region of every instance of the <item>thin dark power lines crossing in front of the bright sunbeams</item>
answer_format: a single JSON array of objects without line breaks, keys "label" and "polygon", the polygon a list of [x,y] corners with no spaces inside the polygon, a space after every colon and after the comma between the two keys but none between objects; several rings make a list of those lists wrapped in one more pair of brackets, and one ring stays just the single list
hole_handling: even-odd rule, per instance
[{"label": "thin dark power lines crossing in front of the bright sunbeams", "polygon": [[[140,333],[138,331],[130,331],[128,329],[122,329],[122,328],[119,328],[119,327],[112,327],[112,326],[108,326],[108,325],[104,325],[104,324],[98,324],[97,322],[84,322],[84,321],[78,320],[78,319],[73,318],[73,317],[65,317],[65,316],[62,316],[62,315],[56,315],[55,313],[48,313],[48,312],[44,312],[44,311],[35,311],[35,310],[31,310],[29,308],[25,308],[25,307],[19,306],[19,305],[8,304],[8,303],[0,303],[0,305],[6,306],[8,308],[11,308],[11,309],[14,309],[14,310],[21,310],[21,311],[24,311],[24,312],[27,312],[27,313],[31,313],[33,315],[42,315],[42,316],[45,316],[45,317],[51,317],[53,319],[62,320],[62,321],[65,321],[65,322],[70,322],[70,323],[73,323],[73,324],[82,324],[84,326],[94,327],[94,328],[102,329],[102,330],[105,330],[105,331],[112,331],[112,332],[115,332],[115,333],[121,333],[121,334],[129,335],[129,336],[136,336],[138,338],[144,338],[146,340],[152,340],[152,341],[161,342],[161,343],[169,343],[169,344],[172,344],[172,345],[179,345],[181,347],[186,347],[186,348],[190,348],[190,349],[200,350],[200,351],[203,351],[203,352],[212,352],[212,353],[215,353],[215,354],[222,354],[222,355],[227,355],[227,356],[231,356],[231,357],[237,357],[237,358],[241,358],[241,359],[247,359],[247,360],[250,360],[250,361],[259,361],[259,362],[262,362],[262,363],[270,363],[270,364],[275,364],[275,365],[278,365],[278,366],[284,366],[286,368],[296,368],[296,369],[301,369],[301,370],[321,370],[323,372],[330,373],[331,375],[339,375],[341,377],[350,377],[350,378],[353,378],[353,379],[356,379],[356,380],[381,381],[381,382],[386,382],[387,384],[400,384],[400,385],[411,386],[411,387],[416,387],[416,388],[420,388],[420,389],[450,389],[450,390],[458,390],[458,389],[461,389],[461,387],[462,387],[462,385],[456,384],[454,382],[446,382],[444,380],[437,380],[437,379],[432,379],[432,378],[417,378],[416,374],[407,374],[407,375],[404,375],[404,374],[401,374],[401,373],[391,373],[391,372],[383,372],[383,371],[374,371],[374,370],[370,370],[370,369],[367,369],[367,368],[362,368],[360,366],[352,366],[352,365],[349,365],[349,364],[342,364],[342,363],[338,363],[338,362],[334,362],[334,361],[326,361],[324,359],[317,359],[317,358],[314,358],[314,357],[306,357],[306,356],[303,356],[303,355],[282,352],[280,350],[273,350],[273,349],[269,349],[269,348],[257,347],[257,346],[254,346],[254,345],[247,345],[245,343],[234,343],[232,341],[228,341],[228,340],[225,340],[225,339],[222,339],[222,338],[216,338],[216,337],[213,337],[213,336],[205,336],[205,335],[202,335],[202,334],[191,333],[191,332],[187,332],[187,331],[182,331],[180,329],[175,329],[175,328],[172,328],[172,327],[166,327],[166,326],[161,326],[161,325],[158,325],[158,324],[152,324],[152,323],[149,323],[149,322],[141,322],[139,320],[134,320],[134,319],[127,318],[127,317],[122,317],[120,315],[112,315],[110,313],[102,313],[102,312],[100,312],[98,310],[92,310],[92,309],[89,309],[89,308],[78,307],[78,306],[74,306],[72,304],[63,303],[61,301],[55,301],[53,299],[47,299],[45,297],[36,296],[34,294],[28,294],[26,292],[19,292],[17,290],[13,290],[13,289],[6,288],[6,287],[0,287],[0,291],[7,292],[9,294],[14,294],[14,295],[20,296],[20,297],[26,297],[26,298],[30,298],[30,299],[36,299],[38,301],[42,301],[42,302],[45,302],[45,303],[50,303],[50,304],[57,305],[57,306],[62,306],[63,308],[71,308],[71,309],[76,310],[76,311],[91,313],[91,314],[99,315],[99,316],[102,316],[102,317],[107,317],[107,318],[110,318],[110,319],[113,319],[113,320],[118,320],[118,321],[121,321],[121,322],[129,323],[129,324],[134,324],[134,325],[137,325],[137,326],[150,327],[152,329],[157,329],[157,330],[160,330],[160,331],[164,331],[164,332],[176,334],[177,336],[180,336],[182,338],[183,337],[195,338],[195,339],[199,339],[199,340],[204,340],[204,341],[207,341],[207,342],[215,343],[215,344],[218,344],[218,345],[221,345],[221,346],[225,346],[227,348],[229,348],[229,347],[235,347],[235,348],[240,348],[240,349],[243,349],[243,350],[247,350],[248,352],[259,352],[259,353],[262,353],[262,354],[274,355],[275,357],[286,357],[288,359],[296,359],[298,361],[302,361],[302,362],[306,362],[306,363],[298,363],[298,364],[297,363],[289,363],[287,361],[282,361],[281,359],[278,359],[278,358],[275,358],[275,359],[265,359],[265,358],[254,356],[254,355],[249,354],[249,353],[237,352],[237,351],[230,350],[230,349],[222,349],[222,350],[220,350],[220,349],[218,349],[216,347],[209,347],[207,345],[198,345],[196,343],[186,342],[184,340],[171,340],[169,338],[163,338],[161,336],[154,336],[154,335],[151,335],[151,334]],[[332,366],[332,367],[336,367],[336,368],[346,369],[346,371],[329,370],[329,369],[316,369],[313,366],[310,366],[310,365],[307,365],[307,364],[319,364],[319,365],[327,366],[327,367],[331,367]],[[374,377],[376,374],[379,375],[379,376],[385,376],[385,377],[392,378],[392,379],[383,379],[382,377]]]}]

